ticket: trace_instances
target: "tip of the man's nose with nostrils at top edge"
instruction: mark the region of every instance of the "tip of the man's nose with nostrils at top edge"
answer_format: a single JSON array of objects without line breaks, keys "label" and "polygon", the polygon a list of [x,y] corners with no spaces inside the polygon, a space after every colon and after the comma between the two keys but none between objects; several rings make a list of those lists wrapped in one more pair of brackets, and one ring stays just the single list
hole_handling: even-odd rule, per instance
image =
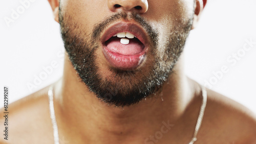
[{"label": "tip of the man's nose with nostrils at top edge", "polygon": [[145,13],[148,9],[147,0],[109,0],[108,7],[111,11],[118,10]]}]

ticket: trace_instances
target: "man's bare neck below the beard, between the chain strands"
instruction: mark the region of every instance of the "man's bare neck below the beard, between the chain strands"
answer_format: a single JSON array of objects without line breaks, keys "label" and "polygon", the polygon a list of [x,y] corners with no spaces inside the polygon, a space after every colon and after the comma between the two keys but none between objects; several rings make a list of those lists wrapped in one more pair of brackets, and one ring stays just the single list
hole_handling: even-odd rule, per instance
[{"label": "man's bare neck below the beard, between the chain strands", "polygon": [[[175,124],[195,96],[182,63],[181,56],[175,73],[163,84],[161,92],[138,104],[120,108],[100,102],[78,78],[66,55],[63,77],[54,86],[59,135],[80,136],[88,142],[118,143],[131,141],[131,137],[134,140],[152,135],[163,122]],[[67,127],[75,131],[70,132]]]}]

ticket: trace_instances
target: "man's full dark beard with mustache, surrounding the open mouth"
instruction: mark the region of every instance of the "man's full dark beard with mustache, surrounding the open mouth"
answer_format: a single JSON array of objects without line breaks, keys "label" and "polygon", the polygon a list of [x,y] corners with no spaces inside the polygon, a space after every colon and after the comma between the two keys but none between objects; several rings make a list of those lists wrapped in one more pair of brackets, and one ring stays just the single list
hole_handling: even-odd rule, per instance
[{"label": "man's full dark beard with mustache, surrounding the open mouth", "polygon": [[[96,51],[100,47],[100,34],[111,23],[121,19],[136,21],[150,37],[151,45],[143,66],[132,70],[121,70],[108,66],[111,75],[104,77],[97,62]],[[173,73],[193,18],[167,33],[160,40],[160,32],[137,13],[117,13],[97,23],[91,34],[86,34],[68,13],[59,12],[61,35],[69,59],[78,77],[96,97],[108,105],[130,106],[159,92],[163,83]],[[164,39],[164,40],[163,40]]]}]

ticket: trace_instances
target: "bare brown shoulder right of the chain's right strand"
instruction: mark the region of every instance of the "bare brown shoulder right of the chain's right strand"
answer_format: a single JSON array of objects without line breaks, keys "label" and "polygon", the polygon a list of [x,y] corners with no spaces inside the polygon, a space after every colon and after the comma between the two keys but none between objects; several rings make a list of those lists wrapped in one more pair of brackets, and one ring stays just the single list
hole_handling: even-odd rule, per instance
[{"label": "bare brown shoulder right of the chain's right strand", "polygon": [[256,116],[245,106],[222,94],[207,90],[207,105],[205,109],[201,137],[215,140],[208,143],[256,143]]}]

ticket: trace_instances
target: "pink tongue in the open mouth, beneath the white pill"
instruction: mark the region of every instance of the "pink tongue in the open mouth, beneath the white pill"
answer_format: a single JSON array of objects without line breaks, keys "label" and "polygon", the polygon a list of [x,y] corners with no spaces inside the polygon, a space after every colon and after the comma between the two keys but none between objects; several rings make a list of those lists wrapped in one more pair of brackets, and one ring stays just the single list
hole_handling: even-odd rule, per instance
[{"label": "pink tongue in the open mouth, beneath the white pill", "polygon": [[120,43],[120,39],[118,37],[110,38],[106,41],[106,47],[110,51],[124,56],[136,55],[143,51],[144,46],[137,38],[129,39],[129,44]]}]

